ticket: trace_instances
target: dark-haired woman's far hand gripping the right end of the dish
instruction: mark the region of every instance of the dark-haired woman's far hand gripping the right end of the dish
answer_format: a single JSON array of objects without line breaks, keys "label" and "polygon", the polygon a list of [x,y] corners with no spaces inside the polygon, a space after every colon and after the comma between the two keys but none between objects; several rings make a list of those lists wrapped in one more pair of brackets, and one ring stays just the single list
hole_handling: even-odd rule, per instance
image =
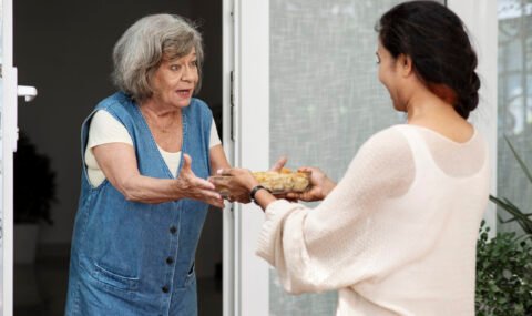
[{"label": "dark-haired woman's far hand gripping the right end of the dish", "polygon": [[310,173],[310,188],[301,193],[287,193],[287,200],[300,200],[305,202],[321,201],[336,186],[336,183],[332,182],[321,170],[317,167],[304,166],[300,167],[298,171]]}]

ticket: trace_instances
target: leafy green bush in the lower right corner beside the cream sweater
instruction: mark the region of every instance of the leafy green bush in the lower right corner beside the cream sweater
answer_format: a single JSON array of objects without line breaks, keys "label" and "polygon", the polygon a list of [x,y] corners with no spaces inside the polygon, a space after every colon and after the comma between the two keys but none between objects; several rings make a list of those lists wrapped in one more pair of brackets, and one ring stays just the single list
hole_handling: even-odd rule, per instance
[{"label": "leafy green bush in the lower right corner beside the cream sweater", "polygon": [[477,316],[532,315],[532,236],[498,233],[482,221],[477,244]]}]

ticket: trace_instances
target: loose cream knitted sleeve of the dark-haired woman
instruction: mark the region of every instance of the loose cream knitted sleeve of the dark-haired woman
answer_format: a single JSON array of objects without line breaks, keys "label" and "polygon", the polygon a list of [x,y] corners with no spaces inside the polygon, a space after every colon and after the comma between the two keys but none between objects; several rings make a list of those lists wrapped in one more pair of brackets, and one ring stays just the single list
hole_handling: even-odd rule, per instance
[{"label": "loose cream knitted sleeve of the dark-haired woman", "polygon": [[[389,243],[379,232],[393,223],[383,205],[415,177],[411,150],[393,128],[369,139],[320,205],[279,200],[266,210],[257,255],[277,268],[287,292],[321,292],[375,277]],[[388,223],[389,222],[389,223]],[[389,265],[388,265],[389,266]]]}]

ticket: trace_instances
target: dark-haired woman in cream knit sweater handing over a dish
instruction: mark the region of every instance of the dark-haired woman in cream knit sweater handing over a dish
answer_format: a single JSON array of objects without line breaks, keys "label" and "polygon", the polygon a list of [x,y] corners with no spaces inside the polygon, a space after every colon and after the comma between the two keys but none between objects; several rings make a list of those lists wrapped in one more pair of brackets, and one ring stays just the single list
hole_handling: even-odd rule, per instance
[{"label": "dark-haired woman in cream knit sweater handing over a dish", "polygon": [[337,315],[474,315],[475,242],[488,204],[487,143],[467,119],[477,55],[459,17],[410,1],[378,24],[379,80],[408,124],[358,151],[335,184],[321,171],[276,200],[246,170],[213,179],[266,212],[257,254],[291,293],[338,289]]}]

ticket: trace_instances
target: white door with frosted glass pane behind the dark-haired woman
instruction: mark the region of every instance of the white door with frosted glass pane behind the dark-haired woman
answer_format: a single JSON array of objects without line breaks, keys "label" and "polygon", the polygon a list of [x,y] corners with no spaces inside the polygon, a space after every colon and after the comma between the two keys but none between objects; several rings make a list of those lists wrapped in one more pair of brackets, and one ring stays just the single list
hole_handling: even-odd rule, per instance
[{"label": "white door with frosted glass pane behind the dark-haired woman", "polygon": [[[378,18],[399,2],[234,0],[234,164],[260,171],[287,155],[288,167],[317,165],[339,180],[365,140],[403,122],[403,115],[390,111],[388,93],[377,79],[374,30]],[[495,17],[494,0],[471,1],[474,6],[449,2],[468,26],[473,24],[473,37],[480,34],[480,74],[491,90],[482,95],[488,110],[478,124],[484,125],[481,130],[492,141],[497,54],[485,49],[497,52],[497,40],[482,32],[489,24],[497,33],[497,19],[489,20]],[[480,14],[473,17],[473,12]],[[491,144],[494,152],[495,142]],[[493,213],[489,220],[494,221]],[[334,315],[335,292],[287,295],[275,271],[255,255],[263,221],[253,204],[237,205],[234,211],[229,281],[234,296],[224,302],[232,304],[231,315]]]}]

